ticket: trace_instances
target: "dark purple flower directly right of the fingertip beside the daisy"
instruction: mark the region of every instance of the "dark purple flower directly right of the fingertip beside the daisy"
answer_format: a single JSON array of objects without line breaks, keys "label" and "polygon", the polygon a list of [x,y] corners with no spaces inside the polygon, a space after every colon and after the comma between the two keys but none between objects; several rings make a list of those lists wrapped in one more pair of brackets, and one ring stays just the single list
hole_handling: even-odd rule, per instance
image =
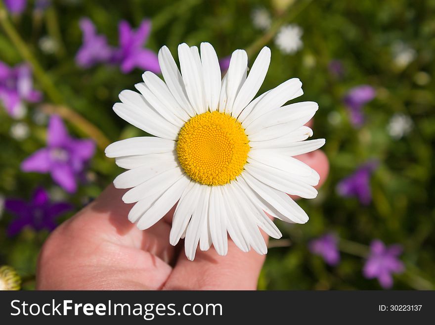
[{"label": "dark purple flower directly right of the fingertip beside the daisy", "polygon": [[362,204],[368,205],[372,200],[370,176],[377,166],[376,161],[360,166],[352,175],[337,185],[337,192],[343,197],[356,196]]}]

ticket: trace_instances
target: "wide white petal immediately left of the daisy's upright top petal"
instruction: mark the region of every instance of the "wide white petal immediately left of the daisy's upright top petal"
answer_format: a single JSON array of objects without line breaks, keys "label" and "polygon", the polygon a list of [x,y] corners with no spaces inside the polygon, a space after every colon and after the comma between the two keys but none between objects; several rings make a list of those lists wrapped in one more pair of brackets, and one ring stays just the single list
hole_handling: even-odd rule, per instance
[{"label": "wide white petal immediately left of the daisy's upright top petal", "polygon": [[194,111],[201,114],[207,110],[207,103],[203,91],[201,59],[199,53],[197,54],[198,48],[192,47],[190,48],[185,43],[180,44],[178,46],[178,57],[187,96]]}]

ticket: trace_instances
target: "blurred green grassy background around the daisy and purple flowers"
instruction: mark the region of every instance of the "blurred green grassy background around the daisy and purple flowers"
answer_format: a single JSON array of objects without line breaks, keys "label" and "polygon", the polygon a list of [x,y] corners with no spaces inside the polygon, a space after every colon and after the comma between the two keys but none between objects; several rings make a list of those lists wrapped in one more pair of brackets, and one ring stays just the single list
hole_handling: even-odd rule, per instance
[{"label": "blurred green grassy background around the daisy and purple flowers", "polygon": [[[253,20],[259,8],[271,17],[266,30]],[[111,142],[142,134],[112,111],[118,94],[133,89],[142,71],[123,74],[106,64],[83,69],[74,57],[82,44],[80,18],[89,17],[113,46],[118,44],[120,20],[137,28],[142,19],[150,18],[146,46],[155,52],[167,45],[176,56],[179,43],[199,46],[208,41],[219,57],[247,49],[252,63],[261,47],[269,46],[272,60],[260,93],[298,77],[304,84],[301,100],[319,104],[314,138],[326,139],[323,150],[330,160],[330,175],[316,199],[299,201],[310,216],[307,224],[278,223],[283,239],[271,242],[277,247],[269,249],[260,289],[379,289],[376,279],[365,279],[361,272],[375,238],[404,248],[400,258],[406,271],[395,276],[394,289],[434,288],[435,0],[53,0],[42,11],[35,10],[35,1],[28,1],[22,14],[3,16],[1,21],[10,22],[24,43],[0,29],[0,60],[12,66],[28,61],[30,54],[35,87],[44,93],[41,103],[27,105],[27,115],[19,122],[30,129],[25,139],[14,136],[11,128],[18,121],[0,108],[3,197],[28,199],[37,186],[44,186],[53,199],[70,201],[78,211],[120,173],[98,149],[87,183],[70,195],[49,175],[23,173],[19,165],[45,146],[47,111],[59,113],[77,137],[89,134],[68,111],[78,112]],[[275,45],[276,33],[286,24],[303,30],[303,46],[296,53],[282,53]],[[47,40],[55,46],[46,46]],[[411,57],[403,59],[403,51]],[[331,60],[341,62],[342,75],[331,73]],[[354,128],[343,96],[360,84],[374,87],[376,97],[363,108],[366,123]],[[388,129],[396,113],[412,119],[412,130],[400,139]],[[380,165],[371,179],[371,204],[340,197],[340,180],[372,158]],[[38,252],[48,233],[26,229],[8,237],[5,230],[12,219],[1,213],[0,265],[14,267],[23,288],[32,289]],[[341,238],[342,261],[336,267],[327,266],[307,248],[309,240],[325,232]]]}]

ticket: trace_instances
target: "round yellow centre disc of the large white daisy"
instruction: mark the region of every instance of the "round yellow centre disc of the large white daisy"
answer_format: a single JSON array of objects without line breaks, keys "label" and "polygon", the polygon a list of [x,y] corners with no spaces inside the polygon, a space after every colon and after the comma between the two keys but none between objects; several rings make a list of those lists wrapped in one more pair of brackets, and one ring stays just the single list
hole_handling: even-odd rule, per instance
[{"label": "round yellow centre disc of the large white daisy", "polygon": [[242,124],[218,111],[192,117],[178,135],[181,167],[193,180],[205,185],[224,185],[243,171],[249,140]]}]

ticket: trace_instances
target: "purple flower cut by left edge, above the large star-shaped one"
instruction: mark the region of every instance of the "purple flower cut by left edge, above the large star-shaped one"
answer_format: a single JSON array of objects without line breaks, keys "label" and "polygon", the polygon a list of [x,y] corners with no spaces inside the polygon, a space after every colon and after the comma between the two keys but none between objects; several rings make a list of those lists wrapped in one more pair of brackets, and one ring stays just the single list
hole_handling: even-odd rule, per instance
[{"label": "purple flower cut by left edge, above the large star-shaped one", "polygon": [[11,117],[18,117],[22,101],[38,102],[42,93],[33,89],[32,71],[27,64],[9,67],[0,61],[0,100]]}]

